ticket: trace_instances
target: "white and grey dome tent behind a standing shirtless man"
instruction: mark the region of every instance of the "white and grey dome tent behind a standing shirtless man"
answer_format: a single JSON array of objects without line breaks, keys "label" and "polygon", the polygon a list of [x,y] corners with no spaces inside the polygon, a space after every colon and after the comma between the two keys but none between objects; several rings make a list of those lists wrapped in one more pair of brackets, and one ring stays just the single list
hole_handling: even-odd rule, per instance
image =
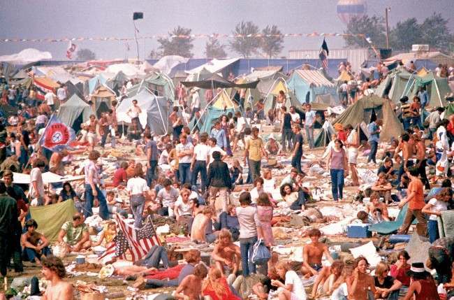
[{"label": "white and grey dome tent behind a standing shirtless man", "polygon": [[169,103],[165,97],[158,97],[146,88],[140,90],[134,97],[125,98],[117,106],[117,121],[119,124],[131,124],[131,117],[127,115],[129,108],[133,106],[133,100],[142,110],[139,115],[142,127],[149,125],[155,134],[167,134],[169,127]]}]

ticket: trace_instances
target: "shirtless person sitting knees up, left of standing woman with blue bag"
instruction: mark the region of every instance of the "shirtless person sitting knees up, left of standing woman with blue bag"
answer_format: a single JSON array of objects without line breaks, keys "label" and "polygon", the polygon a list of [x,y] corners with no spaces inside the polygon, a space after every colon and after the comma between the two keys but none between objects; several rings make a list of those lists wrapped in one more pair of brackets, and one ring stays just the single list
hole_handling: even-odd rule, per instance
[{"label": "shirtless person sitting knees up, left of standing woman with blue bag", "polygon": [[230,273],[237,273],[241,260],[240,247],[232,242],[232,234],[228,229],[222,229],[219,232],[218,243],[214,247],[212,258],[222,273],[225,266],[230,269]]}]

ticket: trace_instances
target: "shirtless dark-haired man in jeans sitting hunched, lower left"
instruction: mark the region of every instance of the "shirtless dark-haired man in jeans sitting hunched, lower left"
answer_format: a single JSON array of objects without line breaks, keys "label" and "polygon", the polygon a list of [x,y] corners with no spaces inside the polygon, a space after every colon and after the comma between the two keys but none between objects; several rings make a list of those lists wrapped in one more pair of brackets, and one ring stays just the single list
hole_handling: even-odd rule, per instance
[{"label": "shirtless dark-haired man in jeans sitting hunched, lower left", "polygon": [[27,257],[30,262],[36,262],[36,264],[41,266],[41,255],[45,257],[51,255],[49,247],[49,241],[43,234],[40,234],[36,231],[38,228],[38,223],[35,220],[30,219],[25,222],[25,229],[27,232],[22,234],[20,238],[20,243],[24,247],[23,257]]}]

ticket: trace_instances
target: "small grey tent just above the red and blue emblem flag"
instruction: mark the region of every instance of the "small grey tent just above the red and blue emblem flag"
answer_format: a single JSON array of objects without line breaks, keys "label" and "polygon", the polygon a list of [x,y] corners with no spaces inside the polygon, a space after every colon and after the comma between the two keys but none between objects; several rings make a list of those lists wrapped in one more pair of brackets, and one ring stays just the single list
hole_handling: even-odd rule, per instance
[{"label": "small grey tent just above the red and blue emblem flag", "polygon": [[73,94],[65,103],[61,104],[57,117],[77,132],[80,124],[87,122],[90,115],[94,115],[93,108],[80,99],[78,94]]}]

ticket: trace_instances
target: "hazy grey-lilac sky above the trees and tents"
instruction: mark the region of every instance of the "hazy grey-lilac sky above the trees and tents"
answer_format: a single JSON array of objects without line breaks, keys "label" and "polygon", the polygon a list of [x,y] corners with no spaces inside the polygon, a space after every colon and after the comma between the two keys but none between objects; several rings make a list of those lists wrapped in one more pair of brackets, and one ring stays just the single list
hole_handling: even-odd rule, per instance
[{"label": "hazy grey-lilac sky above the trees and tents", "polygon": [[[350,0],[357,1],[357,0]],[[359,0],[358,0],[359,1]],[[390,27],[401,20],[416,17],[423,22],[432,13],[441,13],[454,31],[454,0],[365,0],[368,15],[384,15],[390,6]],[[338,0],[0,0],[0,38],[64,37],[133,37],[132,15],[144,13],[137,21],[138,36],[167,34],[178,25],[193,34],[231,34],[235,24],[251,21],[263,28],[276,24],[284,34],[342,33],[346,25],[337,16]],[[323,38],[284,39],[284,50],[318,49]],[[194,57],[205,57],[205,38],[194,41]],[[136,43],[129,41],[78,41],[79,48],[89,48],[98,59],[134,58]],[[228,39],[221,39],[228,44]],[[342,37],[327,38],[329,48],[344,47]],[[158,43],[139,41],[140,59],[148,56]],[[10,55],[25,48],[49,51],[54,59],[66,59],[68,42],[0,43],[0,55]],[[230,57],[237,56],[226,49]]]}]

